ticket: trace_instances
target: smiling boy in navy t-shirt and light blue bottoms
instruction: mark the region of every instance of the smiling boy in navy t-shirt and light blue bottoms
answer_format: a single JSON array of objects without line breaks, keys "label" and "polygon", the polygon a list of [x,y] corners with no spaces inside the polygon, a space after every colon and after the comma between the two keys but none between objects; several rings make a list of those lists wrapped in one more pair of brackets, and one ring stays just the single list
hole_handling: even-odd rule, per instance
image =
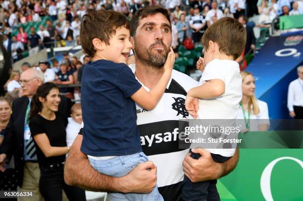
[{"label": "smiling boy in navy t-shirt and light blue bottoms", "polygon": [[[86,11],[80,29],[82,47],[93,58],[86,64],[81,82],[81,151],[95,169],[113,177],[122,177],[148,161],[141,148],[135,102],[147,110],[156,106],[170,80],[175,58],[171,47],[170,51],[164,45],[156,48],[169,53],[161,79],[146,91],[126,65],[133,48],[129,29],[125,15],[92,9]],[[157,187],[150,194],[109,195],[113,200],[163,201]]]}]

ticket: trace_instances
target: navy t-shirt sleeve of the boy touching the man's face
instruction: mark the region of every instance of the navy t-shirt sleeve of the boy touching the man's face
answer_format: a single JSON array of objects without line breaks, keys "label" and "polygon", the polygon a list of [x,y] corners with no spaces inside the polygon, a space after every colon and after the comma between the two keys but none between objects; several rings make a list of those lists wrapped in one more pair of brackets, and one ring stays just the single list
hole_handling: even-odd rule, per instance
[{"label": "navy t-shirt sleeve of the boy touching the man's face", "polygon": [[122,65],[115,84],[122,91],[125,98],[132,96],[142,87],[135,74],[126,65]]}]

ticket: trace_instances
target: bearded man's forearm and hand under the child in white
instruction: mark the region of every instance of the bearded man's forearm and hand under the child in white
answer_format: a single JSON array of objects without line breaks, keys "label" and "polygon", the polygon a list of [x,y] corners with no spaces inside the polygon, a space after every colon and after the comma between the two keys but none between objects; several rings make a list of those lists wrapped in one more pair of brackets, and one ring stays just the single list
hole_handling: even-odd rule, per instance
[{"label": "bearded man's forearm and hand under the child in white", "polygon": [[238,149],[232,158],[222,163],[213,161],[210,153],[204,149],[192,149],[192,152],[201,155],[196,160],[188,154],[183,161],[184,173],[192,182],[219,179],[229,174],[237,166],[239,160]]}]

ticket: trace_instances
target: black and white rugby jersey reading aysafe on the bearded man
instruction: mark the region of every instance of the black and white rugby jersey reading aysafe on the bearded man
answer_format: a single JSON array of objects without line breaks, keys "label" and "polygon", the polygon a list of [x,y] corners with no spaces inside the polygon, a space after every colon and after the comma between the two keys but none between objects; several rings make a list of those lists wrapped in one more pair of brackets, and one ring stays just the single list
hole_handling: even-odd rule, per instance
[{"label": "black and white rugby jersey reading aysafe on the bearded man", "polygon": [[[135,64],[130,68],[135,72]],[[143,152],[157,166],[157,185],[165,201],[182,200],[182,161],[189,149],[179,149],[178,120],[192,119],[185,110],[185,99],[187,92],[196,86],[196,80],[173,70],[161,100],[152,111],[137,105]]]}]

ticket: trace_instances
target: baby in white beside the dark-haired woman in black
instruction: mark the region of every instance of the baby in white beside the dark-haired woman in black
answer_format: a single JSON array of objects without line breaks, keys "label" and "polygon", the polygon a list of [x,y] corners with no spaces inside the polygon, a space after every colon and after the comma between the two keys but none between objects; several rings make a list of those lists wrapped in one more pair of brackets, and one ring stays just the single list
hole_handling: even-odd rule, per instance
[{"label": "baby in white beside the dark-haired woman in black", "polygon": [[66,127],[66,144],[67,146],[71,146],[78,135],[79,130],[81,129],[82,124],[82,111],[81,104],[76,103],[71,108],[72,114],[70,115],[68,120],[68,124]]}]

